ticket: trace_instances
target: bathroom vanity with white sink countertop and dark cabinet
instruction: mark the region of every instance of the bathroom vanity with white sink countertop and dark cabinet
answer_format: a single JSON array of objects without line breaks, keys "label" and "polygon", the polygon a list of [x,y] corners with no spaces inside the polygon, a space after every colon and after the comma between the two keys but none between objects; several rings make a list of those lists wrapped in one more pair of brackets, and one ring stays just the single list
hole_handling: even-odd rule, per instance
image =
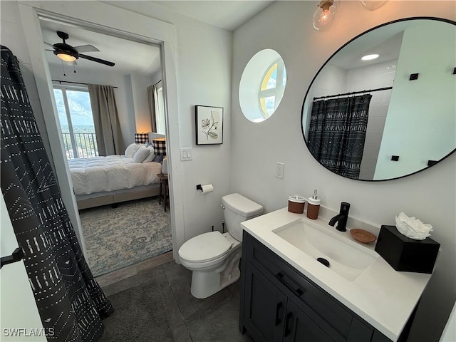
[{"label": "bathroom vanity with white sink countertop and dark cabinet", "polygon": [[406,338],[430,274],[395,271],[326,218],[284,208],[242,227],[239,328],[254,341]]}]

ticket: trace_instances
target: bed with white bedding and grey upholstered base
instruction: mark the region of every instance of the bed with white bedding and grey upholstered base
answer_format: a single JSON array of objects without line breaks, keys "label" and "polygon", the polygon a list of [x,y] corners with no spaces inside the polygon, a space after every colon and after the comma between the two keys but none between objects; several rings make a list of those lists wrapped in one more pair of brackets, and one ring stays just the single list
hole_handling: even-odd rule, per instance
[{"label": "bed with white bedding and grey upholstered base", "polygon": [[[155,135],[150,140],[156,138],[156,133],[151,134]],[[145,148],[141,144],[129,147],[133,145],[137,145],[138,150],[139,147],[142,150]],[[78,209],[159,195],[160,178],[157,174],[162,172],[162,163],[150,160],[138,162],[136,157],[136,153],[132,157],[127,149],[125,155],[68,160]]]}]

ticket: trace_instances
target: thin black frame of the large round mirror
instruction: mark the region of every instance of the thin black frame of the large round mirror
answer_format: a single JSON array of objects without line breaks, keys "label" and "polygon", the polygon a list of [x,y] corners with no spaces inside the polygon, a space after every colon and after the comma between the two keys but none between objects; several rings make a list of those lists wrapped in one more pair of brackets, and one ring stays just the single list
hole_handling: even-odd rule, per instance
[{"label": "thin black frame of the large round mirror", "polygon": [[[302,103],[302,107],[301,107],[301,133],[302,133],[302,137],[304,138],[304,142],[306,143],[306,147],[307,147],[307,150],[309,150],[309,144],[307,143],[307,139],[306,139],[306,136],[304,135],[304,127],[303,127],[303,119],[304,119],[304,105],[306,103],[306,99],[307,99],[307,96],[309,95],[309,92],[312,88],[312,86],[314,85],[314,82],[318,76],[318,74],[323,70],[323,68],[326,66],[326,64],[328,64],[329,61],[331,61],[331,58],[333,58],[333,56],[336,56],[336,54],[341,51],[343,48],[345,48],[349,43],[351,43],[352,41],[355,41],[357,38],[363,36],[364,34],[368,33],[368,32],[371,32],[377,28],[380,28],[380,27],[383,27],[383,26],[387,26],[387,25],[390,25],[390,24],[395,24],[395,23],[399,23],[401,21],[411,21],[411,20],[419,20],[419,19],[427,19],[427,20],[435,20],[435,21],[443,21],[445,23],[448,23],[448,24],[452,24],[453,26],[456,26],[456,21],[452,21],[451,19],[445,19],[445,18],[437,18],[437,17],[434,17],[434,16],[413,16],[413,17],[408,17],[408,18],[402,18],[402,19],[397,19],[397,20],[394,20],[394,21],[388,21],[387,23],[384,23],[384,24],[380,24],[378,26],[374,26],[373,28],[369,28],[368,30],[366,31],[363,31],[362,33],[359,33],[357,36],[351,38],[349,41],[347,41],[346,43],[343,44],[343,46],[341,46],[340,48],[338,48],[336,50],[336,52],[334,52],[331,56],[329,56],[329,58],[326,60],[325,63],[323,63],[323,65],[321,66],[321,68],[318,69],[317,73],[315,74],[314,78],[312,78],[312,81],[311,83],[309,84],[309,87],[307,88],[307,91],[306,91],[306,95],[304,96],[304,100],[303,100],[303,103]],[[456,113],[455,113],[456,115]],[[361,182],[385,182],[385,181],[388,181],[388,180],[398,180],[400,178],[404,178],[404,177],[408,177],[408,176],[411,176],[411,175],[415,175],[417,174],[418,172],[422,172],[424,170],[428,170],[430,169],[431,167],[439,164],[442,160],[445,160],[447,157],[450,157],[450,155],[452,155],[453,153],[455,153],[456,151],[456,147],[451,151],[449,152],[447,155],[445,155],[444,157],[440,158],[440,160],[437,160],[437,162],[435,162],[434,164],[428,166],[428,167],[424,167],[423,169],[420,169],[420,170],[417,170],[415,172],[412,172],[412,173],[408,173],[407,175],[403,175],[403,176],[400,176],[400,177],[393,177],[393,178],[386,178],[385,180],[356,180],[356,181],[361,181]],[[310,152],[310,150],[309,150]],[[316,162],[318,162],[318,160],[316,159],[316,157],[314,157],[314,155],[312,155],[311,153],[311,156],[316,160]],[[338,175],[340,177],[343,177],[343,178],[346,178],[348,180],[355,180],[353,178],[350,178],[350,177],[346,177],[346,176],[343,176],[343,175],[339,175],[338,173],[336,172],[333,172],[332,170],[329,170],[327,167],[323,166],[320,164],[320,162],[318,162],[318,164],[321,166],[321,167],[324,167],[326,170],[328,171],[331,171],[334,175]]]}]

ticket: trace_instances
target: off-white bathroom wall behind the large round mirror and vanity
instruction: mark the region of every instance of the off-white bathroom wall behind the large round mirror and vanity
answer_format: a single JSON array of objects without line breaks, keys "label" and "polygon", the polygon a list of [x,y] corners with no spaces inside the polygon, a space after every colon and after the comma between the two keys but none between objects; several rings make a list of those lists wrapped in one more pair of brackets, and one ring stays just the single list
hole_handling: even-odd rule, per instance
[{"label": "off-white bathroom wall behind the large round mirror and vanity", "polygon": [[[351,217],[377,227],[394,224],[400,211],[431,223],[435,227],[432,238],[442,244],[442,252],[423,294],[410,341],[437,341],[455,302],[456,155],[400,180],[348,180],[321,167],[310,155],[300,119],[312,78],[343,43],[368,28],[403,17],[455,20],[454,2],[414,1],[410,6],[410,1],[389,1],[377,11],[363,10],[359,1],[338,4],[338,21],[323,33],[311,26],[315,1],[276,1],[234,31],[231,190],[270,212],[286,207],[289,195],[309,197],[316,188],[323,206],[338,211],[341,202],[350,202]],[[271,25],[278,18],[286,20]],[[288,81],[276,113],[255,124],[242,115],[236,94],[244,66],[264,48],[280,53]],[[285,163],[283,180],[275,177],[276,162]]]}]

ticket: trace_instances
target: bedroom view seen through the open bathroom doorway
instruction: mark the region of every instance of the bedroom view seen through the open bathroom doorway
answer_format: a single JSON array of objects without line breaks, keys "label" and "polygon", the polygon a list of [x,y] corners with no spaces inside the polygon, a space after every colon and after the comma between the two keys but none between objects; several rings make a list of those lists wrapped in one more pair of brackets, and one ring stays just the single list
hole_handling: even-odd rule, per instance
[{"label": "bedroom view seen through the open bathroom doorway", "polygon": [[[40,19],[62,131],[62,149],[70,169],[71,162],[76,162],[80,171],[83,167],[83,172],[78,174],[83,175],[81,180],[73,172],[71,178],[76,199],[85,201],[79,217],[90,269],[94,276],[100,276],[169,252],[172,250],[170,210],[164,210],[157,196],[160,184],[157,174],[162,172],[162,158],[154,156],[151,159],[148,155],[149,161],[138,162],[136,155],[127,158],[125,153],[131,144],[147,148],[147,141],[135,140],[138,135],[147,137],[150,132],[163,135],[166,132],[159,47],[108,36],[81,26],[68,26],[55,19]],[[61,41],[58,32],[68,34],[63,43],[83,52],[75,61],[58,58],[56,44]],[[129,51],[128,58],[121,56],[120,50]],[[97,60],[115,65],[98,63]],[[113,93],[117,123],[116,127],[109,129],[113,135],[118,133],[117,141],[113,143],[114,150],[98,147],[100,141],[106,140],[105,130],[99,133],[101,129],[96,125],[100,113],[94,113],[94,116],[92,109],[99,112],[103,104],[94,105],[96,101],[89,95],[90,85],[110,87]],[[107,106],[111,115],[113,106]],[[116,120],[110,117],[110,123]],[[133,164],[135,177],[140,178],[141,183],[133,182],[131,174],[119,172],[117,164],[115,171],[103,169],[105,166],[95,159],[98,154],[108,160],[106,165],[113,163],[114,158],[122,160],[127,167]],[[87,166],[90,163],[95,163],[99,174],[116,176],[105,180],[106,187],[101,187],[104,181],[96,174],[97,170],[89,174],[92,172],[90,165]],[[140,169],[142,174],[138,173]],[[147,181],[143,184],[142,180]],[[81,190],[79,185],[84,189]],[[103,202],[108,197],[113,198],[114,204]]]}]

